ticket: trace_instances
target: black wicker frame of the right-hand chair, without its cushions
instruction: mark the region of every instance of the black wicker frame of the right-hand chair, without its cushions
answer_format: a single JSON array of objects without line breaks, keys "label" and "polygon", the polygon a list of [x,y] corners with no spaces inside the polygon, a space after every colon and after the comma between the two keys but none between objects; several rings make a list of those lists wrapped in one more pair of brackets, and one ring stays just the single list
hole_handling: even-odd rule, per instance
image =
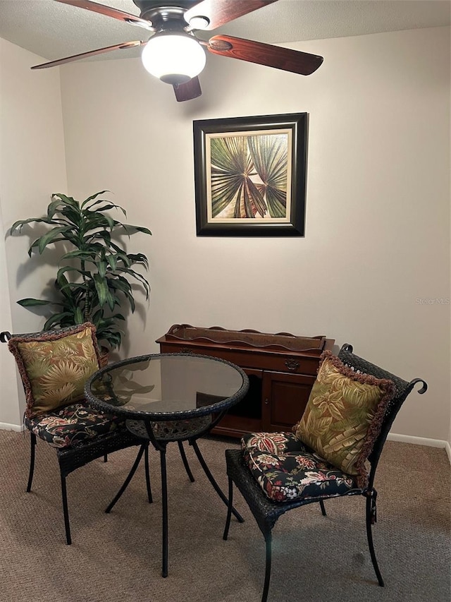
[{"label": "black wicker frame of the right-hand chair, without its cushions", "polygon": [[[345,344],[342,346],[338,357],[340,358],[342,363],[345,363],[345,365],[351,368],[353,371],[373,375],[376,378],[392,380],[395,384],[395,395],[390,400],[388,406],[385,409],[381,431],[378,435],[378,438],[376,438],[376,441],[373,444],[373,447],[368,455],[368,460],[371,464],[371,469],[369,472],[367,486],[364,488],[353,487],[350,488],[350,490],[348,490],[346,493],[338,495],[334,493],[334,495],[330,495],[330,499],[350,495],[363,495],[364,498],[366,498],[366,535],[368,538],[369,552],[371,555],[373,568],[376,572],[376,577],[378,579],[378,584],[380,586],[383,586],[383,579],[376,560],[376,553],[374,551],[373,536],[371,531],[372,525],[376,522],[377,491],[373,487],[374,477],[376,475],[376,468],[378,465],[379,458],[381,457],[383,445],[387,438],[388,432],[390,431],[390,427],[392,426],[393,421],[395,420],[397,412],[400,410],[400,407],[402,406],[404,400],[413,390],[415,385],[421,385],[421,388],[418,391],[421,394],[426,392],[427,385],[425,381],[421,378],[414,378],[414,380],[407,382],[406,380],[403,380],[402,378],[399,378],[398,376],[389,373],[388,371],[385,371],[382,368],[379,368],[375,364],[360,358],[359,356],[353,353],[352,345],[350,344]],[[268,433],[268,435],[269,434],[270,433]],[[261,486],[259,486],[256,479],[252,475],[251,471],[249,470],[249,467],[244,461],[242,450],[226,450],[226,463],[229,482],[229,509],[223,538],[227,539],[228,530],[230,528],[230,507],[233,504],[233,483],[235,483],[235,486],[237,486],[238,490],[240,490],[240,493],[242,493],[243,498],[245,498],[247,505],[249,505],[249,509],[252,511],[252,514],[254,515],[259,529],[264,535],[266,541],[266,571],[264,579],[264,589],[261,597],[261,602],[266,602],[266,599],[268,597],[269,582],[271,578],[271,532],[273,526],[276,524],[278,518],[288,510],[292,510],[294,508],[300,507],[302,505],[307,505],[312,502],[319,502],[321,512],[324,515],[326,515],[326,509],[324,507],[323,501],[328,498],[328,495],[321,494],[321,496],[318,497],[306,496],[305,498],[300,497],[295,498],[294,500],[274,502],[265,495]],[[293,593],[292,596],[294,595],[295,594]],[[288,595],[287,597],[289,598],[290,596]]]}]

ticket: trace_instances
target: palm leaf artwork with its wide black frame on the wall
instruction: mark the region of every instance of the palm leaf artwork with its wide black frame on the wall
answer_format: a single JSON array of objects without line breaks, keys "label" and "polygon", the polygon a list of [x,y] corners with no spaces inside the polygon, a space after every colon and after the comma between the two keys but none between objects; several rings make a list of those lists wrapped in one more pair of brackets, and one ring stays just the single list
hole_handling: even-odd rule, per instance
[{"label": "palm leaf artwork with its wide black frame on the wall", "polygon": [[197,236],[304,236],[307,113],[193,128]]}]

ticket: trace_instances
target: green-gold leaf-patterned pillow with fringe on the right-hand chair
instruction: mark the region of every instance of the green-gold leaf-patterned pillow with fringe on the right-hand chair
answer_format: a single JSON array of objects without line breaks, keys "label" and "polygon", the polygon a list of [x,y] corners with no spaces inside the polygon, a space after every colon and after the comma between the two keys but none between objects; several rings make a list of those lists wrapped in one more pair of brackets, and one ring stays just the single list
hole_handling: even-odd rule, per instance
[{"label": "green-gold leaf-patterned pillow with fringe on the right-hand chair", "polygon": [[330,351],[321,355],[318,375],[296,437],[333,466],[367,480],[365,461],[381,432],[385,407],[395,395],[391,380],[347,368]]}]

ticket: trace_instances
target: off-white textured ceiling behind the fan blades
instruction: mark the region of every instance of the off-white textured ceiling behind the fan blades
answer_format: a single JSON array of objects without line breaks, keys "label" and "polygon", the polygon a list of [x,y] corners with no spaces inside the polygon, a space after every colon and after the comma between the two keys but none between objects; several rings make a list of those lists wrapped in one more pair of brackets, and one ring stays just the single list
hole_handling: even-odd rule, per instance
[{"label": "off-white textured ceiling behind the fan blades", "polygon": [[[101,4],[139,14],[132,0],[101,0]],[[277,44],[438,27],[450,25],[450,16],[450,0],[278,0],[199,37],[208,39],[227,33]],[[54,0],[0,0],[0,37],[54,60],[130,40],[145,40],[147,34],[122,21]],[[139,54],[139,49],[116,50],[94,59]]]}]

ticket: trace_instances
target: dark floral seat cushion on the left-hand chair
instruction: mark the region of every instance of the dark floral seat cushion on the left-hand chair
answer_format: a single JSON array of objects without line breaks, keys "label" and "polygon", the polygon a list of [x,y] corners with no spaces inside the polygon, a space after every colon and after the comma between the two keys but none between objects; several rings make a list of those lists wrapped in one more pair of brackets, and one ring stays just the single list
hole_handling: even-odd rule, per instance
[{"label": "dark floral seat cushion on the left-hand chair", "polygon": [[117,416],[103,414],[79,402],[34,418],[25,417],[25,426],[53,447],[61,448],[111,433],[125,423]]}]

